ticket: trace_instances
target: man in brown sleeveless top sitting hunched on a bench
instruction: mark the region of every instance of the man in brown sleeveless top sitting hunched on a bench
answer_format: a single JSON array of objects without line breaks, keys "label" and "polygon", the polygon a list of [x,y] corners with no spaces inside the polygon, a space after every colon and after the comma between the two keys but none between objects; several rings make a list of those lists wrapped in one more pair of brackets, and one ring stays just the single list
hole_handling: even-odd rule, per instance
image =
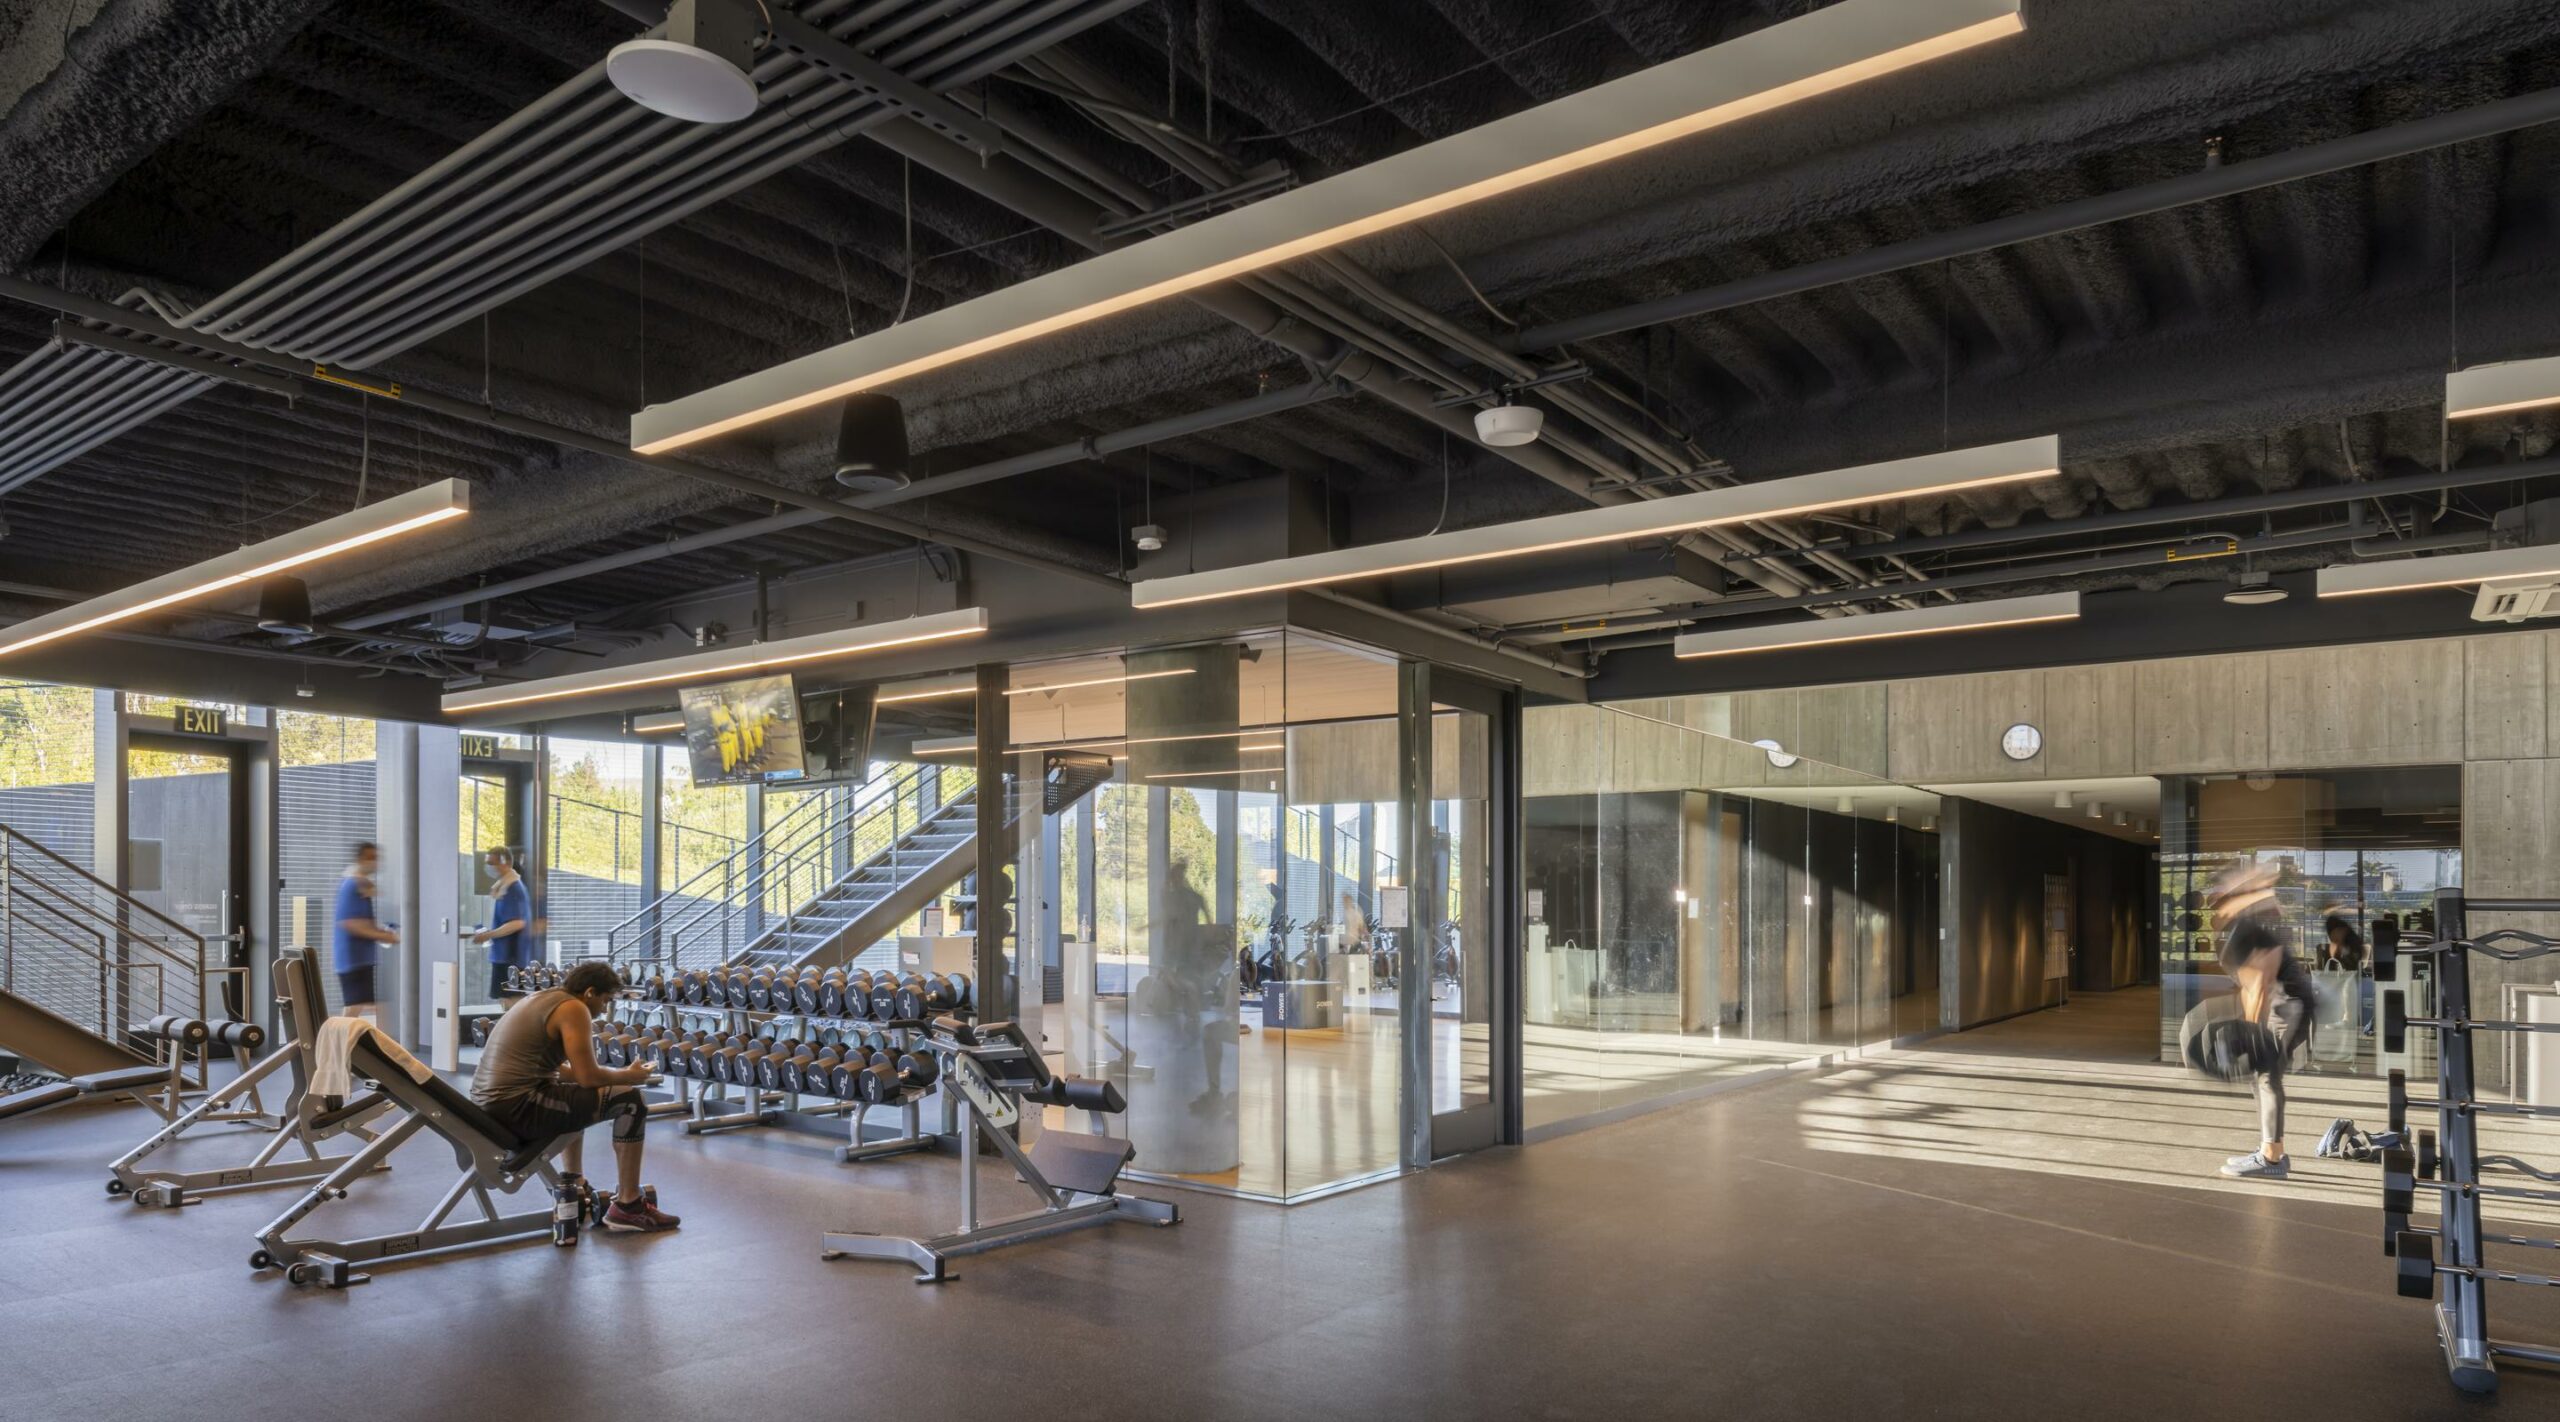
[{"label": "man in brown sleeveless top sitting hunched on a bench", "polygon": [[568,1138],[561,1150],[563,1186],[576,1189],[584,1166],[584,1130],[614,1122],[614,1202],[604,1227],[617,1232],[673,1230],[678,1220],[640,1197],[640,1127],[648,1102],[640,1084],[648,1066],[596,1061],[594,1020],[622,997],[622,974],[609,963],[579,963],[561,986],[520,999],[489,1030],[471,1099],[525,1140]]}]

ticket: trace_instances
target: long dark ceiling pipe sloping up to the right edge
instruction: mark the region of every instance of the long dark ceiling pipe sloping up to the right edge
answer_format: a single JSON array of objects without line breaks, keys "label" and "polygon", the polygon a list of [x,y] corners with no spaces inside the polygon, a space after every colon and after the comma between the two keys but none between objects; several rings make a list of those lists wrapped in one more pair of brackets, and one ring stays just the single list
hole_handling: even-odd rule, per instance
[{"label": "long dark ceiling pipe sloping up to the right edge", "polygon": [[2348,133],[2345,138],[2330,138],[2324,143],[2307,143],[2301,149],[2268,154],[2245,164],[2207,167],[2161,182],[2127,187],[2122,192],[2102,192],[2076,202],[2058,202],[2033,213],[1994,218],[1971,228],[1897,241],[1848,256],[1833,256],[1828,261],[1789,266],[1784,272],[1764,272],[1720,287],[1679,292],[1613,310],[1595,310],[1572,320],[1551,320],[1503,338],[1503,346],[1513,351],[1551,351],[1574,341],[1618,336],[1623,331],[1661,325],[1667,320],[1687,320],[1777,297],[1797,297],[1820,287],[1838,287],[1841,282],[1884,277],[1956,256],[1974,256],[1999,246],[2074,233],[2104,223],[2122,223],[2127,218],[2145,218],[2171,208],[2212,202],[2217,197],[2255,192],[2260,187],[2276,187],[2304,177],[2424,154],[2429,149],[2470,138],[2491,138],[2496,133],[2532,128],[2555,118],[2560,118],[2560,90],[2534,90],[2529,95],[2483,102],[2455,113],[2394,123],[2391,128],[2373,128],[2365,133]]}]

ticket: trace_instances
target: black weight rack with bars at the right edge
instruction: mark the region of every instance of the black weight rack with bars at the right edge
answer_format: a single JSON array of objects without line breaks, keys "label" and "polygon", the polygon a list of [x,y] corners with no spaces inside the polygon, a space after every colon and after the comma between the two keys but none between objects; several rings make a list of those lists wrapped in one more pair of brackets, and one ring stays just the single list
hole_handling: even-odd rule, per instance
[{"label": "black weight rack with bars at the right edge", "polygon": [[[2473,1035],[2560,1030],[2542,1022],[2506,1022],[2470,1017],[2470,958],[2499,961],[2540,958],[2560,951],[2560,940],[2499,930],[2481,938],[2468,935],[2470,912],[2555,912],[2560,899],[2465,899],[2460,889],[2440,889],[2435,899],[2437,938],[2432,943],[2401,943],[2399,933],[2381,925],[2373,935],[2373,979],[2383,986],[2383,1043],[2401,1050],[2409,1027],[2437,1033],[2437,1148],[2419,1158],[2406,1145],[2383,1156],[2383,1227],[2386,1253],[2399,1258],[2399,1291],[2435,1302],[2437,1345],[2445,1350],[2445,1373],[2452,1386],[2473,1394],[2499,1389],[2496,1361],[2560,1366],[2560,1348],[2529,1343],[2499,1343],[2488,1337],[2488,1284],[2560,1286],[2560,1279],[2491,1268],[2488,1243],[2560,1248],[2560,1240],[2527,1235],[2491,1235],[2481,1220],[2483,1199],[2560,1202],[2560,1191],[2483,1181],[2483,1166],[2519,1171],[2534,1179],[2555,1179],[2511,1156],[2481,1156],[2483,1102],[2476,1099]],[[2516,948],[2509,948],[2516,945]],[[2409,1017],[2406,994],[2394,984],[2399,958],[2435,961],[2435,1017]],[[2399,1117],[2404,1089],[2394,1081],[2394,1117]],[[2552,1117],[2534,1107],[2504,1107],[2493,1115]],[[2404,1138],[2406,1140],[2406,1138]],[[2427,1189],[2440,1202],[2435,1230],[2406,1227],[2417,1191]],[[2445,1258],[2437,1258],[2442,1243]],[[2442,1291],[2437,1289],[2442,1279]]]}]

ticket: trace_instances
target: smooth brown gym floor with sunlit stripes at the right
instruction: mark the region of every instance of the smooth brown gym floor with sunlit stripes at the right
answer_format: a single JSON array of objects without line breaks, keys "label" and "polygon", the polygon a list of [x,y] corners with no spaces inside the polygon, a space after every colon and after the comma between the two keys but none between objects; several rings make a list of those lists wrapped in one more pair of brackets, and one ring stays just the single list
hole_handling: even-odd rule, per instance
[{"label": "smooth brown gym floor with sunlit stripes at the right", "polygon": [[[2514,1371],[2486,1404],[2445,1384],[2368,1166],[2214,1176],[2248,1097],[2127,1045],[2145,1002],[1295,1209],[1162,1191],[1175,1230],[1044,1240],[940,1289],[822,1263],[817,1232],[940,1227],[950,1158],[653,1132],[678,1235],[297,1294],[243,1263],[279,1191],[115,1207],[100,1163],[141,1115],[36,1117],[0,1127],[0,1419],[2560,1414],[2560,1378]],[[2304,1135],[2378,1102],[2301,1097]],[[448,1168],[415,1145],[369,1191],[399,1209],[369,1214],[422,1212]],[[2496,1330],[2560,1340],[2552,1294],[2496,1294]]]}]

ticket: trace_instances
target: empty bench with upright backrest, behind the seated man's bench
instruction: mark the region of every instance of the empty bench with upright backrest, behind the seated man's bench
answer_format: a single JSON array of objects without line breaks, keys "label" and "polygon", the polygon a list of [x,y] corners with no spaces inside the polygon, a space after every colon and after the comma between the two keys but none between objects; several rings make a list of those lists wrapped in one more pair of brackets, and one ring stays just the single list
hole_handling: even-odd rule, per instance
[{"label": "empty bench with upright backrest, behind the seated man's bench", "polygon": [[[248,1066],[248,1053],[243,1050],[243,1071],[233,1076],[230,1084],[207,1094],[195,1104],[195,1109],[172,1120],[133,1150],[118,1156],[115,1163],[108,1166],[110,1197],[133,1197],[136,1204],[179,1207],[195,1204],[197,1197],[212,1191],[307,1181],[325,1176],[348,1161],[348,1156],[320,1153],[320,1143],[330,1135],[356,1135],[364,1140],[374,1138],[364,1122],[387,1109],[392,1104],[389,1097],[381,1091],[361,1091],[338,1102],[310,1089],[312,1045],[320,1040],[320,1022],[328,1020],[328,997],[320,992],[320,966],[310,953],[287,948],[276,956],[276,1004],[284,1009],[284,1027],[292,1033],[292,1040],[279,1050],[266,1053],[266,1061],[256,1066]],[[284,1102],[282,1117],[269,1117],[259,1109],[264,1104],[259,1102],[259,1084],[276,1071],[287,1071],[292,1076],[292,1091]],[[248,1097],[248,1109],[233,1107],[241,1097]],[[274,1135],[243,1166],[218,1166],[205,1171],[143,1168],[143,1158],[207,1122],[248,1122],[269,1127]],[[287,1145],[300,1145],[302,1158],[279,1161],[276,1156],[282,1156]]]}]

